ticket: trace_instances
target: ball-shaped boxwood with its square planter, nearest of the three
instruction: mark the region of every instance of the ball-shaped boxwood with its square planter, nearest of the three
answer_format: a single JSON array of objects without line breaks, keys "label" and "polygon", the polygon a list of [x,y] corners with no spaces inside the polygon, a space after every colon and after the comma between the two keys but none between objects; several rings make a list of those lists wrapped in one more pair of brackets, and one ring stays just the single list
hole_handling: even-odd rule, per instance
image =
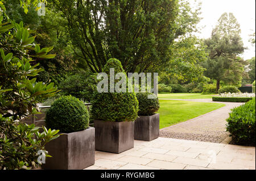
[{"label": "ball-shaped boxwood with its square planter, nearest of the three", "polygon": [[61,135],[46,144],[52,156],[43,169],[84,169],[95,162],[95,129],[89,126],[84,103],[69,95],[61,96],[46,112],[46,127]]}]

